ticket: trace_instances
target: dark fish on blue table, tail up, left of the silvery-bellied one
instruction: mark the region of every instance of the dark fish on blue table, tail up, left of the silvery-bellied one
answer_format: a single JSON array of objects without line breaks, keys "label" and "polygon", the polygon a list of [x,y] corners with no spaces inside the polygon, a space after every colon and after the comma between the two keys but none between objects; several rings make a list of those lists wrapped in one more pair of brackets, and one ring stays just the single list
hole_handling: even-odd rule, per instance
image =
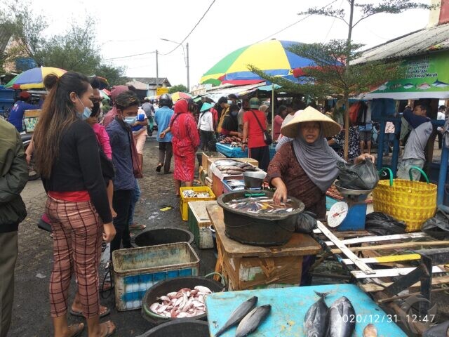
[{"label": "dark fish on blue table, tail up, left of the silvery-bellied one", "polygon": [[328,332],[328,305],[324,298],[329,293],[317,293],[320,299],[311,305],[304,316],[304,331],[307,337],[324,337]]}]

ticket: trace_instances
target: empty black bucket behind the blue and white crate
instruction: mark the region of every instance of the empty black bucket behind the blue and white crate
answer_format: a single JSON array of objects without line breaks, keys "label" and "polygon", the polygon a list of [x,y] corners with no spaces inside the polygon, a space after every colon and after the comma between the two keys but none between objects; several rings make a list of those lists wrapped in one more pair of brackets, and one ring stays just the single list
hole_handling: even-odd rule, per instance
[{"label": "empty black bucket behind the blue and white crate", "polygon": [[194,236],[187,230],[165,227],[145,230],[135,237],[134,243],[138,247],[156,246],[158,244],[175,244],[177,242],[194,242]]}]

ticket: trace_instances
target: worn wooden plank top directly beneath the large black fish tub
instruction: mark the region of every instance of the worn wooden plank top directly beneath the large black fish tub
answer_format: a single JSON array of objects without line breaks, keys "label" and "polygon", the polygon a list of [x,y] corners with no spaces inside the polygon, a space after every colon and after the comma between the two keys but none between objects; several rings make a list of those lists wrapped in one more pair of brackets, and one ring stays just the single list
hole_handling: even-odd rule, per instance
[{"label": "worn wooden plank top directly beneath the large black fish tub", "polygon": [[321,246],[310,235],[300,233],[293,233],[290,241],[283,246],[262,247],[241,244],[226,236],[223,209],[218,205],[208,205],[207,210],[215,227],[217,238],[221,240],[222,248],[229,258],[304,256],[315,255],[321,251]]}]

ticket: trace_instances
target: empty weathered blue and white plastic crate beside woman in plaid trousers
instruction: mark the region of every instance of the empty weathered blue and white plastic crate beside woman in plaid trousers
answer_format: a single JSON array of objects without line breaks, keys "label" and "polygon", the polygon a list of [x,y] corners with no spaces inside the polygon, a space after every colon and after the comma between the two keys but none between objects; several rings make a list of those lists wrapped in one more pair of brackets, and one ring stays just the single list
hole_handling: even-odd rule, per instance
[{"label": "empty weathered blue and white plastic crate beside woman in plaid trousers", "polygon": [[112,253],[116,308],[139,309],[146,291],[174,277],[197,276],[199,257],[187,242],[121,249]]}]

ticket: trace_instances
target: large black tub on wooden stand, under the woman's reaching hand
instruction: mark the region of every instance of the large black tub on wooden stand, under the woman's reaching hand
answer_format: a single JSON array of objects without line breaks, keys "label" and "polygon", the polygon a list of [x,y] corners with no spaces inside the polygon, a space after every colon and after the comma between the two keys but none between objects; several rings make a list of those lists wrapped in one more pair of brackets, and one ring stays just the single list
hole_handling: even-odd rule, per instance
[{"label": "large black tub on wooden stand, under the woman's reaching hand", "polygon": [[[263,191],[267,197],[273,197],[273,192]],[[222,207],[225,220],[225,234],[230,239],[242,244],[255,246],[280,246],[286,244],[295,232],[296,215],[304,211],[302,201],[289,197],[295,205],[290,213],[248,213],[232,209],[225,204],[232,199],[241,199],[250,190],[229,192],[220,195],[217,203]]]}]

